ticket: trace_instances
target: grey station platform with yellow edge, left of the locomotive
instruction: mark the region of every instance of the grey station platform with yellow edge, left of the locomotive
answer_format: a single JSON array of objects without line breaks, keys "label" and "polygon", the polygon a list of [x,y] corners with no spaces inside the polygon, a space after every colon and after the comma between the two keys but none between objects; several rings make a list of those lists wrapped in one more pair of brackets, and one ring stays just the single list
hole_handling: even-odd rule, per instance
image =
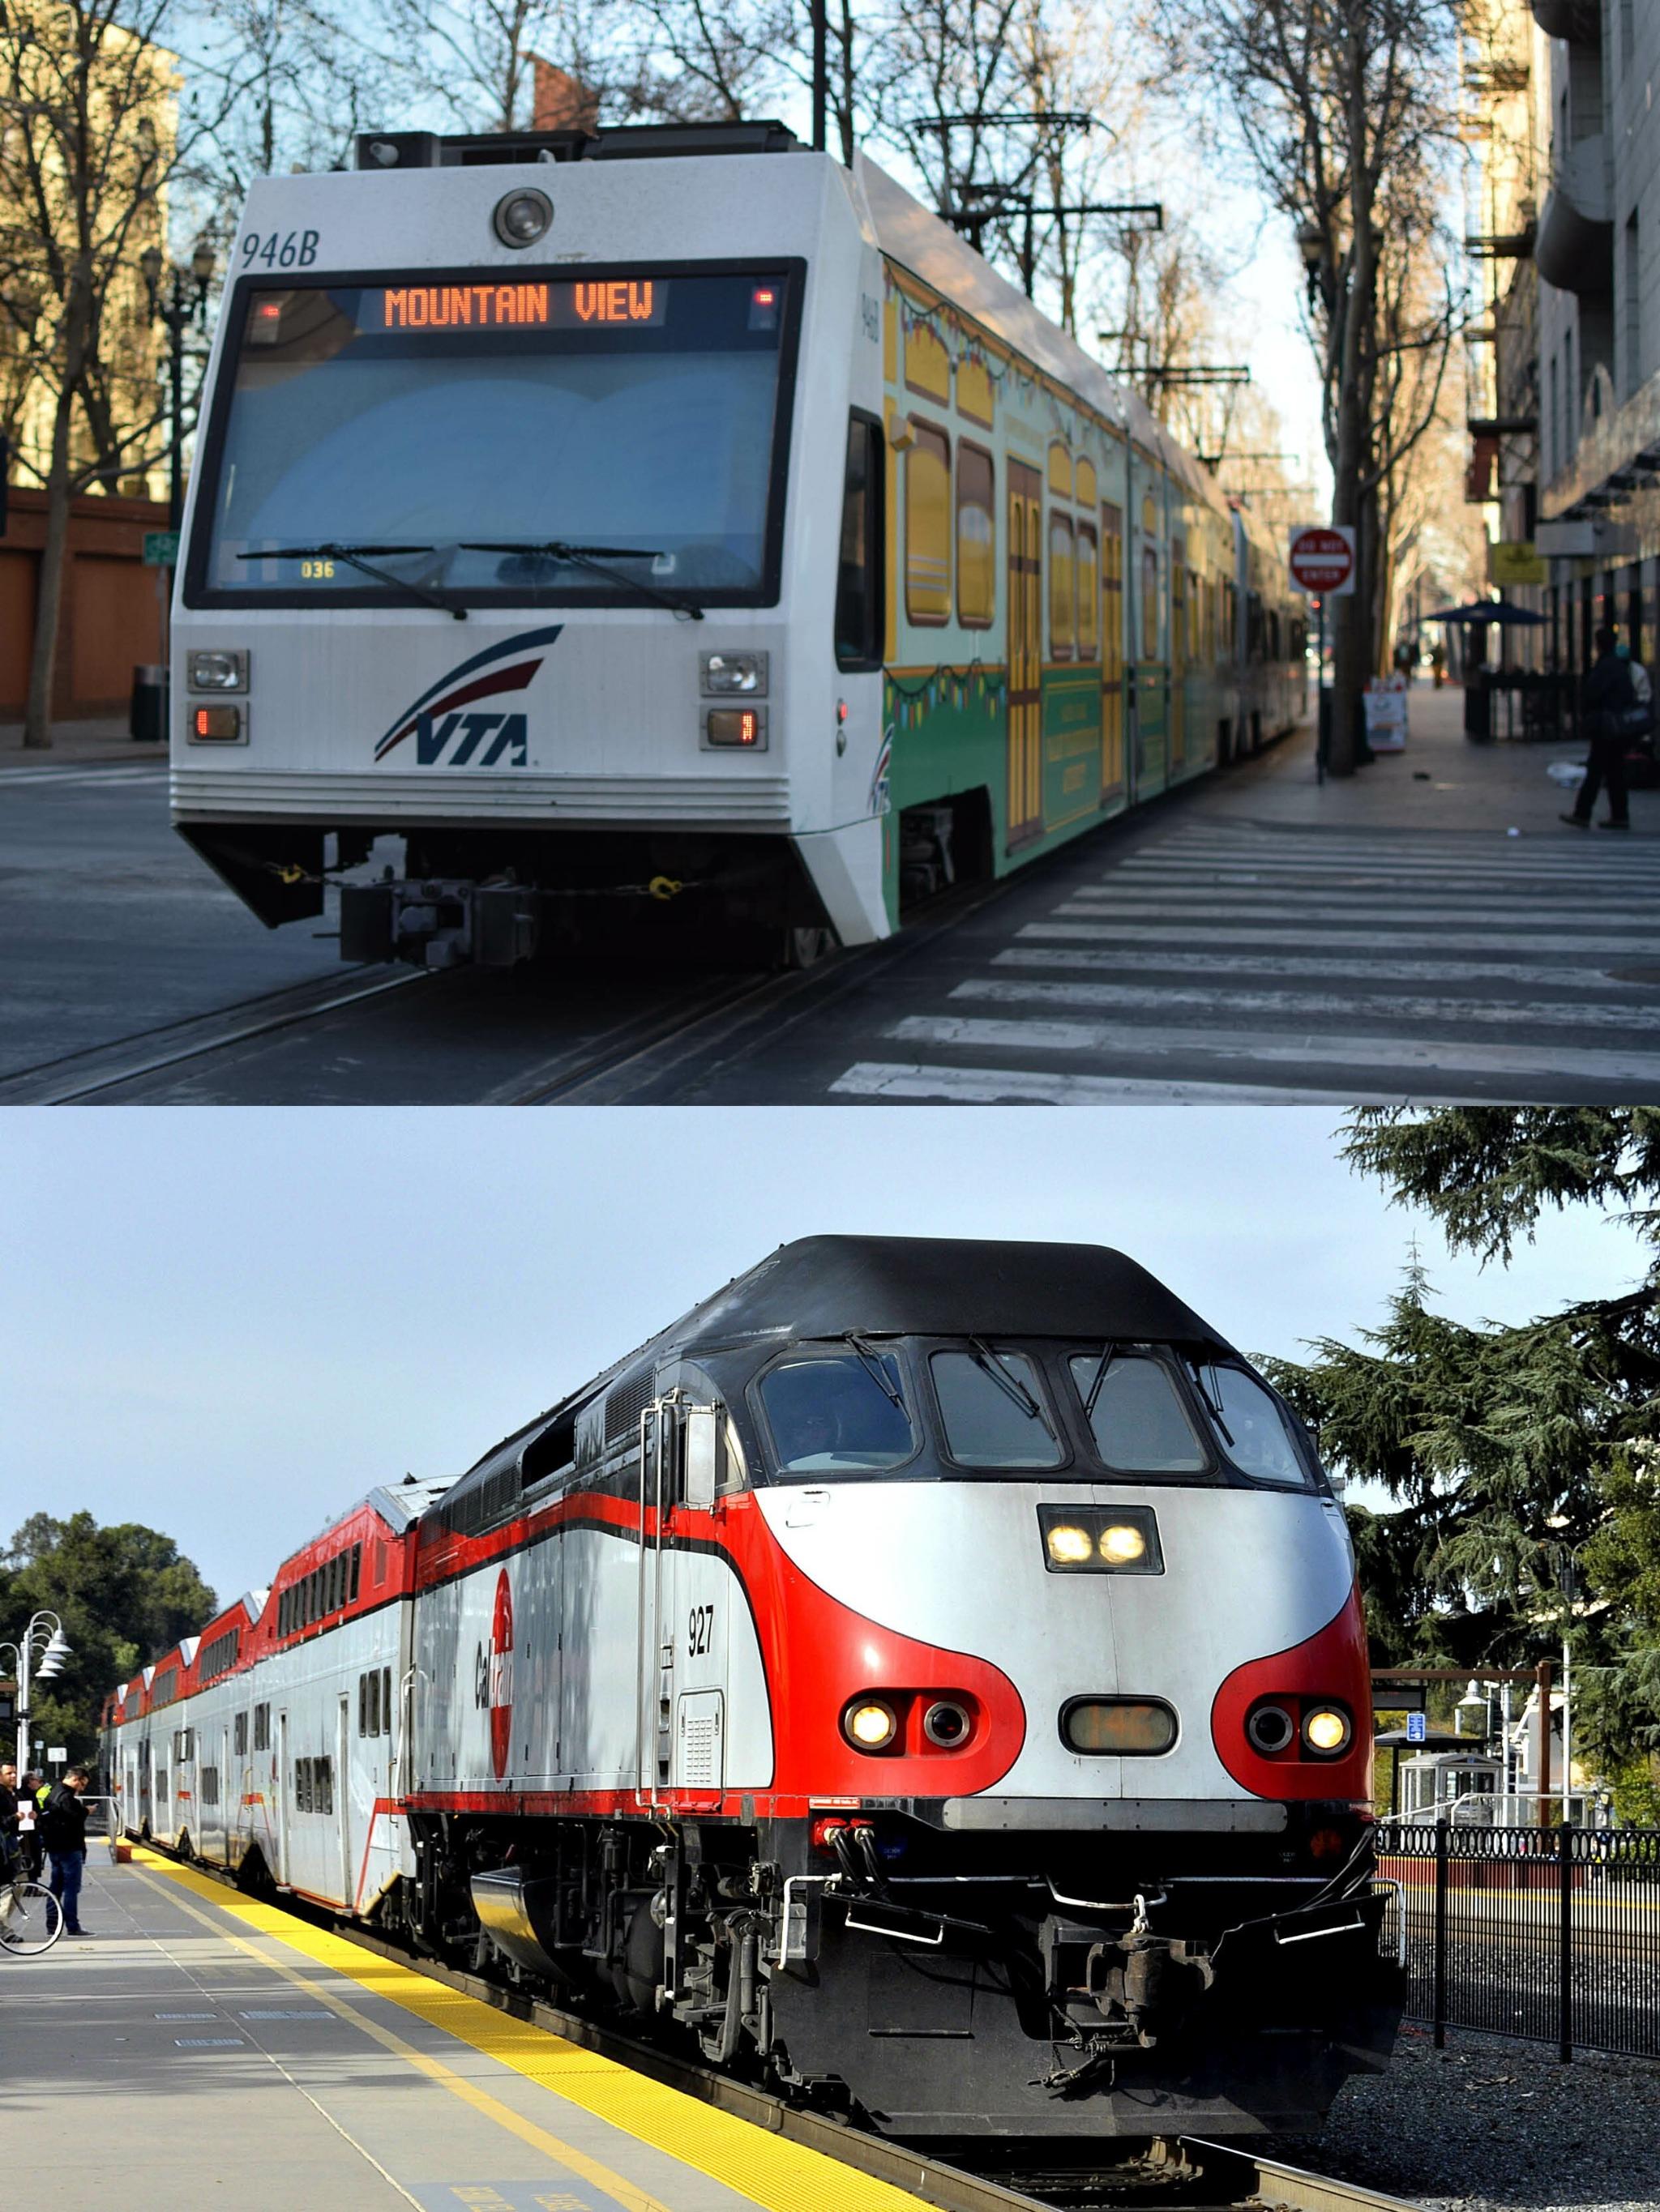
[{"label": "grey station platform with yellow edge, left of the locomotive", "polygon": [[135,1854],[0,1960],[0,2163],[55,2212],[910,2212],[921,2199]]}]

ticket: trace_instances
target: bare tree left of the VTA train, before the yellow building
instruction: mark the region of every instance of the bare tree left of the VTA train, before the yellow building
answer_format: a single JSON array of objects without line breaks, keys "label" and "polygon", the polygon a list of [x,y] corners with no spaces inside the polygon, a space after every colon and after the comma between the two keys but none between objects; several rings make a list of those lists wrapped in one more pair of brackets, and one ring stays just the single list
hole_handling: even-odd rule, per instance
[{"label": "bare tree left of the VTA train, before the yellow building", "polygon": [[179,117],[170,31],[173,0],[0,4],[0,301],[18,458],[46,491],[24,745],[51,745],[71,502],[166,445],[139,257],[164,246],[201,135]]}]

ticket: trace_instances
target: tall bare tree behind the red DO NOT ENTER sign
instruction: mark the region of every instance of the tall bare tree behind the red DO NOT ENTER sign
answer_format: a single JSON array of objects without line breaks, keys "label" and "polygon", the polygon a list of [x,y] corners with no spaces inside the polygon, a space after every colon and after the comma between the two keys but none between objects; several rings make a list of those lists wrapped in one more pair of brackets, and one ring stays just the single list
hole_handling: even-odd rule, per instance
[{"label": "tall bare tree behind the red DO NOT ENTER sign", "polygon": [[1405,294],[1390,257],[1432,243],[1419,210],[1439,199],[1452,133],[1456,13],[1456,0],[1155,0],[1171,64],[1222,95],[1310,270],[1332,522],[1359,549],[1357,593],[1335,602],[1335,774],[1355,768],[1377,657],[1379,487],[1432,420],[1401,411],[1388,374],[1392,352],[1421,343],[1392,325],[1392,283]]}]

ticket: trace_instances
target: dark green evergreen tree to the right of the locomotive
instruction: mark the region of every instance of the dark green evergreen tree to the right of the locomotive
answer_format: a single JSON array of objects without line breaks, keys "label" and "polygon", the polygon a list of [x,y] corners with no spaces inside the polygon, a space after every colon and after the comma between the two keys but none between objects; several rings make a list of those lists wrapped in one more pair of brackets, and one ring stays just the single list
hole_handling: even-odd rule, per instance
[{"label": "dark green evergreen tree to the right of the locomotive", "polygon": [[1649,1812],[1660,1754],[1660,1108],[1366,1108],[1346,1157],[1505,1263],[1545,1208],[1602,1203],[1649,1248],[1633,1290],[1521,1325],[1436,1314],[1408,1267],[1361,1345],[1275,1380],[1328,1460],[1397,1511],[1352,1509],[1372,1659],[1529,1666],[1563,1635],[1576,1741]]}]

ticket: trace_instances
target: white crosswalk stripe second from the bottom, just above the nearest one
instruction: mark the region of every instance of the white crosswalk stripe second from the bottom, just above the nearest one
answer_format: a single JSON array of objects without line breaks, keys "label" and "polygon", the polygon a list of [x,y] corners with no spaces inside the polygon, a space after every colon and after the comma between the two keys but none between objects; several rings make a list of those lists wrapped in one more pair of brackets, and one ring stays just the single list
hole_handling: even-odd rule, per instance
[{"label": "white crosswalk stripe second from the bottom, just above the nearest one", "polygon": [[1660,1053],[1583,1051],[1574,1053],[1571,1062],[1565,1064],[1560,1040],[1543,1044],[1481,1044],[1467,1037],[1355,1037],[1321,1031],[1279,1037],[1208,1026],[1005,1022],[927,1013],[905,1015],[885,1035],[901,1044],[958,1044],[974,1046],[976,1051],[1007,1053],[1113,1053],[1120,1060],[1177,1060],[1186,1055],[1222,1062],[1386,1068],[1390,1073],[1428,1068],[1439,1077],[1441,1088],[1452,1088],[1459,1075],[1543,1077],[1560,1082],[1565,1073],[1571,1073],[1580,1082],[1607,1082],[1625,1088],[1642,1086],[1647,1095],[1656,1095],[1656,1084],[1660,1084]]}]

